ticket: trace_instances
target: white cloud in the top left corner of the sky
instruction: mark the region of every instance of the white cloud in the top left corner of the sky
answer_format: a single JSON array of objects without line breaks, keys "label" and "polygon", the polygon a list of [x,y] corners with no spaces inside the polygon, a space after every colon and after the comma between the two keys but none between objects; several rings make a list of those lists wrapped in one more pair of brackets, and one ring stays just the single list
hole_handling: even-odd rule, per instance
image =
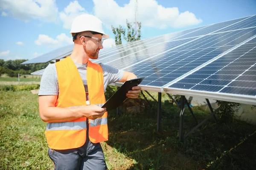
[{"label": "white cloud in the top left corner of the sky", "polygon": [[55,0],[0,0],[0,11],[3,10],[23,21],[40,19],[53,22],[58,17]]}]

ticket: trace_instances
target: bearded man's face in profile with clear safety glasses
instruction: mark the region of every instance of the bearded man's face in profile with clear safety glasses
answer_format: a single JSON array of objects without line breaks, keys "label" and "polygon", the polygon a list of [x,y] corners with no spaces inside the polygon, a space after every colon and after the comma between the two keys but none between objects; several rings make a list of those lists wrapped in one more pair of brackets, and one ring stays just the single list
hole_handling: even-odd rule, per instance
[{"label": "bearded man's face in profile with clear safety glasses", "polygon": [[[102,40],[102,35],[100,34],[94,34],[94,35],[88,35],[91,37],[96,37],[100,40]],[[101,44],[100,40],[96,40],[90,37],[85,37],[86,40],[86,46],[84,48],[85,53],[91,58],[91,59],[97,59],[99,57],[99,50],[103,49],[103,46]]]}]

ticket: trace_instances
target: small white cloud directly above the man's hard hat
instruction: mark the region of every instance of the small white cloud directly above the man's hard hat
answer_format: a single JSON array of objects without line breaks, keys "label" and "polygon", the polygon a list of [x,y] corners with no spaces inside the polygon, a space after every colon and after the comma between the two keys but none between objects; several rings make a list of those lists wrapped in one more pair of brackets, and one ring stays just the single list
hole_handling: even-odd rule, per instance
[{"label": "small white cloud directly above the man's hard hat", "polygon": [[63,22],[63,28],[70,29],[73,20],[80,14],[87,13],[85,9],[78,3],[77,0],[70,2],[70,4],[59,13],[59,17]]}]

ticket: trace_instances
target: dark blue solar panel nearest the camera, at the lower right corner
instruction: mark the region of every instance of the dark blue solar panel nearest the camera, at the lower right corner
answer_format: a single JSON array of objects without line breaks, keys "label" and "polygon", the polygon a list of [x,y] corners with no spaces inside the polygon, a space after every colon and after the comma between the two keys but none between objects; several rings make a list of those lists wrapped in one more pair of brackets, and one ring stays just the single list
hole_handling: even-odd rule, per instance
[{"label": "dark blue solar panel nearest the camera, at the lower right corner", "polygon": [[[195,93],[211,92],[211,94],[230,96],[231,101],[255,104],[256,43],[253,43],[255,39],[249,40],[198,71],[187,75],[186,78],[169,85],[165,89],[166,92],[172,91],[171,89],[186,89]],[[243,101],[242,95],[251,97]]]}]

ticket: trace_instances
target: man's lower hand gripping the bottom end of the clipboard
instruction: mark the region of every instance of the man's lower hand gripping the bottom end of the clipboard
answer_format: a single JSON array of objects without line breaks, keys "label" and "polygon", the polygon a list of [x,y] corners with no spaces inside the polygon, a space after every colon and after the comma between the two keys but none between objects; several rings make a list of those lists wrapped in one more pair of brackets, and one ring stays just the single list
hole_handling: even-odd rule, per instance
[{"label": "man's lower hand gripping the bottom end of the clipboard", "polygon": [[102,115],[106,112],[106,108],[101,108],[96,105],[87,105],[79,107],[79,113],[83,117],[95,120],[96,118],[101,118]]}]

